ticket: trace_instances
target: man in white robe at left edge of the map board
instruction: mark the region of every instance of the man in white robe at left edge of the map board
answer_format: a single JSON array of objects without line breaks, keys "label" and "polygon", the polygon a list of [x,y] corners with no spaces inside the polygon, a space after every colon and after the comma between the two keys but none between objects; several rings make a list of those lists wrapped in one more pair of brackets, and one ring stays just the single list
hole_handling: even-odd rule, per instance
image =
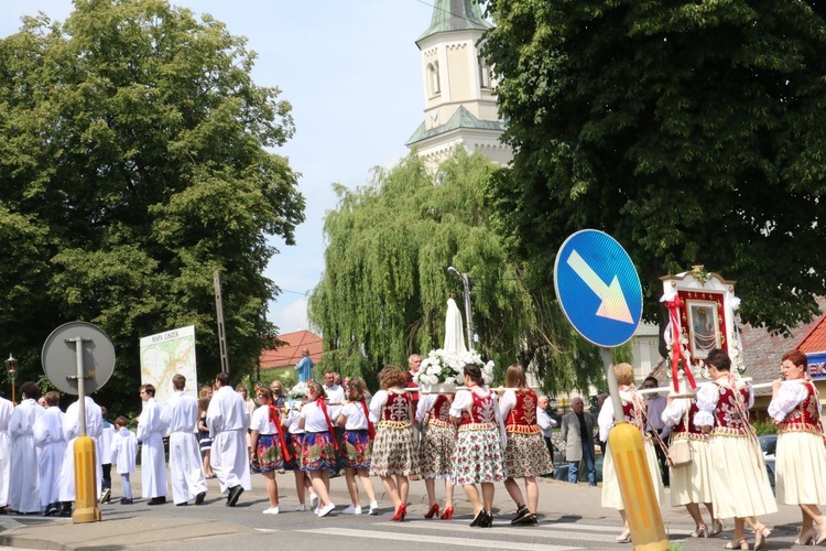
[{"label": "man in white robe at left edge of the map board", "polygon": [[141,493],[146,505],[166,503],[166,458],[163,436],[166,423],[161,418],[161,406],[155,400],[155,387],[141,385],[143,409],[138,420],[138,441],[141,442]]}]

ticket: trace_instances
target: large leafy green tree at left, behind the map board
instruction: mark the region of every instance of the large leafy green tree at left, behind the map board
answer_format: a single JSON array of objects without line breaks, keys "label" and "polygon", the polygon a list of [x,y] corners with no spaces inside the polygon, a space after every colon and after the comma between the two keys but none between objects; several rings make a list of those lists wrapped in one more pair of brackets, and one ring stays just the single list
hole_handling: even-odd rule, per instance
[{"label": "large leafy green tree at left, behind the map board", "polygon": [[267,239],[293,244],[304,199],[268,151],[292,136],[291,106],[251,80],[254,57],[165,0],[77,0],[64,23],[30,18],[0,41],[0,332],[21,375],[84,320],[115,343],[101,401],[119,411],[138,407],[140,336],[195,325],[214,376],[214,270],[231,369],[256,364],[275,331]]}]

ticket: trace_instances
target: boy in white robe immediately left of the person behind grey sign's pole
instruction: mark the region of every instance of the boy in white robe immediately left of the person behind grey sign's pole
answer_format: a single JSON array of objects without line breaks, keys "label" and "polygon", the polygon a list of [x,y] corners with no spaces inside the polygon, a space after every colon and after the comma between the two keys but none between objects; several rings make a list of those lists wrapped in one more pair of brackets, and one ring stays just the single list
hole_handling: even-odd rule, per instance
[{"label": "boy in white robe immediately left of the person behind grey sign's pole", "polygon": [[46,392],[43,398],[46,409],[34,422],[34,443],[40,450],[40,503],[43,516],[50,517],[61,510],[61,467],[66,453],[63,435],[63,411],[57,407],[59,395]]}]

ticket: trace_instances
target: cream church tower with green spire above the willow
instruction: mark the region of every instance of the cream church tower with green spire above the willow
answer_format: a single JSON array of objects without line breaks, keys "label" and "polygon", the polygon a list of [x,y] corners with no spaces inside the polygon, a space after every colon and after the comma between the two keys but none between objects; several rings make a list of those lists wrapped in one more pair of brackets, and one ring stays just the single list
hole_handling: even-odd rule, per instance
[{"label": "cream church tower with green spire above the willow", "polygon": [[406,145],[435,166],[457,145],[498,164],[512,156],[499,138],[496,83],[477,43],[493,25],[474,0],[436,0],[431,26],[416,40],[422,53],[424,122]]}]

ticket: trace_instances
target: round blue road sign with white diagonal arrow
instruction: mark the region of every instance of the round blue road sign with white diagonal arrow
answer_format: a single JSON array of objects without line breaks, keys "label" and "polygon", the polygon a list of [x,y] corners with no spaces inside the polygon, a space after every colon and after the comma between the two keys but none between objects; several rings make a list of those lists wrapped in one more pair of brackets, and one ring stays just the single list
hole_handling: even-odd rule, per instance
[{"label": "round blue road sign with white diagonal arrow", "polygon": [[640,277],[628,252],[604,231],[583,229],[562,244],[554,287],[570,324],[597,346],[619,346],[640,325]]}]

